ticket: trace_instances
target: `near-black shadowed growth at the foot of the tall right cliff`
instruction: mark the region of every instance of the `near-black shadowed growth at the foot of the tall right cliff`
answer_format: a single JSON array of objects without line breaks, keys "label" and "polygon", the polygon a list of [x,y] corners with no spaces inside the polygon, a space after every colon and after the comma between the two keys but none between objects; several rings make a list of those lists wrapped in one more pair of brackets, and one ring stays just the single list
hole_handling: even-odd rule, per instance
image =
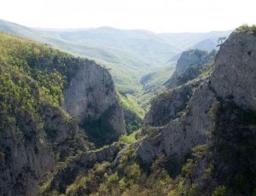
[{"label": "near-black shadowed growth at the foot of the tall right cliff", "polygon": [[[225,165],[217,175],[222,182],[214,195],[253,195],[255,174],[256,112],[236,106],[230,95],[226,101],[219,99],[212,105],[215,129],[212,131],[213,164],[216,170]],[[215,193],[214,191],[214,193]],[[224,194],[226,193],[226,194]]]}]

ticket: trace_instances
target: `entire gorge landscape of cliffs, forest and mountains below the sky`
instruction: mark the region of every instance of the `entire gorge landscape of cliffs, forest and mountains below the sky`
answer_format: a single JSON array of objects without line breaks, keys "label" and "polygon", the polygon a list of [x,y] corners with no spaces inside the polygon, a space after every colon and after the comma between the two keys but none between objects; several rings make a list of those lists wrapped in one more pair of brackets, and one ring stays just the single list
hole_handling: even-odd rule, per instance
[{"label": "entire gorge landscape of cliffs, forest and mountains below the sky", "polygon": [[255,26],[216,48],[0,24],[1,195],[255,195]]}]

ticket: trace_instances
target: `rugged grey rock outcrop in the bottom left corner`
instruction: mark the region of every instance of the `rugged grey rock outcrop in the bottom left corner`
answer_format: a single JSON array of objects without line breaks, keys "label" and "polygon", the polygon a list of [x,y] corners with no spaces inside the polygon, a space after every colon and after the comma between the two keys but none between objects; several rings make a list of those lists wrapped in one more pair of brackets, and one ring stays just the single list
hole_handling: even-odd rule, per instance
[{"label": "rugged grey rock outcrop in the bottom left corner", "polygon": [[36,195],[38,182],[45,172],[55,166],[54,153],[43,140],[33,138],[25,143],[24,136],[17,137],[15,125],[1,133],[0,193],[1,195]]}]

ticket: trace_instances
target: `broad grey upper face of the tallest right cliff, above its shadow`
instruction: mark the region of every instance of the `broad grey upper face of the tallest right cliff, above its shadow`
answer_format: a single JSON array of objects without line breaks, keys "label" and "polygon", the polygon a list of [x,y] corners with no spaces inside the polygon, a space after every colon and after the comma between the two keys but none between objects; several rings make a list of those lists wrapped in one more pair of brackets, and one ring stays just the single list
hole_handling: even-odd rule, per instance
[{"label": "broad grey upper face of the tallest right cliff, above its shadow", "polygon": [[255,36],[233,33],[221,47],[210,78],[218,96],[233,97],[238,106],[256,109]]}]

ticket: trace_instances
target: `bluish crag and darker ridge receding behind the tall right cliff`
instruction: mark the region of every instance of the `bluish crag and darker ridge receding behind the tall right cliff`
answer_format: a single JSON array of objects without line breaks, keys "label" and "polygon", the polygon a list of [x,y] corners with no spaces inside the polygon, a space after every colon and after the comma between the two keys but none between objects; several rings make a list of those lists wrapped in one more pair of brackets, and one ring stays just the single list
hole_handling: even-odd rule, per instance
[{"label": "bluish crag and darker ridge receding behind the tall right cliff", "polygon": [[212,61],[214,55],[215,51],[208,54],[198,49],[183,52],[177,61],[176,71],[169,80],[171,83],[168,84],[168,89],[152,101],[143,122],[143,130],[148,125],[164,126],[185,112],[194,89],[209,78],[212,65],[204,63]]}]

